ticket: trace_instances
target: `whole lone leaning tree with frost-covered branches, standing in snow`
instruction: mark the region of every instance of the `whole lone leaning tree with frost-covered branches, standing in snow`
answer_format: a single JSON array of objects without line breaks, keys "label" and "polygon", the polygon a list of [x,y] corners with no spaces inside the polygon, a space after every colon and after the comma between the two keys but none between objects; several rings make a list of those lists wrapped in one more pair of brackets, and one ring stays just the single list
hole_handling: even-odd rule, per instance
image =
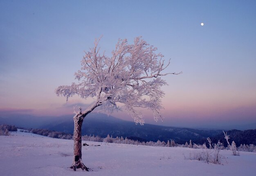
[{"label": "whole lone leaning tree with frost-covered branches, standing in snow", "polygon": [[[82,99],[95,99],[90,107],[76,112],[74,108],[74,158],[70,168],[88,171],[82,162],[81,127],[84,118],[98,106],[102,110],[112,112],[117,108],[126,110],[135,123],[143,125],[141,112],[137,107],[148,108],[153,112],[154,119],[162,119],[159,110],[162,108],[161,98],[164,92],[161,86],[167,85],[161,77],[168,74],[162,71],[170,64],[164,65],[164,56],[155,53],[157,48],[150,46],[141,37],[136,37],[134,44],[127,40],[117,42],[112,56],[99,54],[99,40],[95,40],[94,48],[85,53],[81,61],[81,70],[75,73],[78,83],[71,86],[59,86],[56,94],[68,98],[79,95]],[[117,106],[121,103],[121,107]]]}]

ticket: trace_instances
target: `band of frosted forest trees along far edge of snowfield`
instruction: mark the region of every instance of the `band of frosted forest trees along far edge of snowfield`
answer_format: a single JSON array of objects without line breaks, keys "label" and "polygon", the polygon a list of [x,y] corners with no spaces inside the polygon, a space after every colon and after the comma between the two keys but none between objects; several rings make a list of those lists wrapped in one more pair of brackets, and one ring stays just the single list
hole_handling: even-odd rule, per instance
[{"label": "band of frosted forest trees along far edge of snowfield", "polygon": [[[46,130],[46,129],[32,129],[32,128],[19,128],[20,132],[29,132],[33,134],[39,134],[42,136],[48,136],[52,138],[58,138],[58,139],[72,139],[73,135],[64,133],[64,132],[58,132],[58,131],[52,131],[52,130]],[[0,134],[1,135],[10,135],[6,134],[6,131],[17,131],[17,128],[14,125],[0,125]],[[241,133],[242,132],[242,133]],[[252,132],[252,134],[251,134]],[[254,130],[245,130],[245,131],[239,131],[239,130],[231,130],[228,131],[228,134],[230,134],[230,141],[234,141],[233,139],[240,139],[241,137],[244,137],[244,135],[247,136],[253,136]],[[222,136],[219,136],[220,138],[223,138]],[[161,146],[161,147],[188,147],[188,148],[200,148],[202,147],[202,144],[195,144],[191,140],[184,144],[178,144],[175,143],[174,140],[171,141],[160,141],[157,140],[157,142],[153,141],[145,141],[144,139],[138,138],[138,137],[126,137],[125,139],[121,136],[112,137],[109,134],[106,138],[102,138],[100,136],[94,136],[94,135],[84,135],[82,136],[83,141],[95,141],[95,142],[101,142],[101,143],[122,143],[122,144],[132,144],[132,145],[148,145],[148,146]],[[216,141],[217,138],[213,138],[212,141]],[[247,138],[244,138],[244,140],[248,140]],[[224,140],[221,141],[224,143]],[[240,141],[241,142],[241,141]],[[209,147],[209,146],[208,146]],[[229,150],[229,147],[225,147],[224,145],[221,146],[222,150]],[[254,144],[240,144],[238,145],[239,151],[245,151],[245,152],[256,152],[256,145]]]}]

